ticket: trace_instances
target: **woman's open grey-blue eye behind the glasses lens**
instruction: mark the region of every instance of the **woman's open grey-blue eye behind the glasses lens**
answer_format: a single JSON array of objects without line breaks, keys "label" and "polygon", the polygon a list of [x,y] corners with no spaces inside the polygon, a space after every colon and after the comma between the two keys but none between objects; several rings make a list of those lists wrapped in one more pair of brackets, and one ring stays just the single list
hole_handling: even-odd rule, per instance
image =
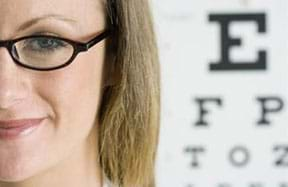
[{"label": "woman's open grey-blue eye behind the glasses lens", "polygon": [[49,37],[37,37],[26,39],[23,43],[25,50],[33,52],[53,52],[55,50],[67,47],[67,43],[61,39]]}]

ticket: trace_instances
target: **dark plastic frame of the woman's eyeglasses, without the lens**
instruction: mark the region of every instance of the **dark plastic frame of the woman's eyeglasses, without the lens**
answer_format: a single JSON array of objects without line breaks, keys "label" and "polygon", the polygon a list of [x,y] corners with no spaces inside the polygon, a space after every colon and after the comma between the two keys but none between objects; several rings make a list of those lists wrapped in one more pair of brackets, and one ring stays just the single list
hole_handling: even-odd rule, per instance
[{"label": "dark plastic frame of the woman's eyeglasses, without the lens", "polygon": [[[24,36],[24,37],[16,38],[13,40],[0,41],[0,47],[5,47],[9,51],[9,54],[12,57],[12,59],[14,60],[14,62],[16,64],[22,66],[22,67],[37,70],[37,71],[50,71],[50,70],[56,70],[56,69],[60,69],[60,68],[63,68],[65,66],[68,66],[69,64],[71,64],[73,62],[73,60],[76,58],[76,56],[79,53],[84,52],[84,51],[88,51],[88,49],[90,49],[91,47],[93,47],[94,45],[96,45],[97,43],[99,43],[100,41],[105,39],[106,37],[108,37],[111,33],[112,33],[112,30],[109,30],[109,29],[104,30],[100,34],[98,34],[97,36],[95,36],[93,39],[91,39],[90,41],[88,41],[86,43],[82,43],[82,42],[78,42],[78,41],[74,41],[74,40],[70,40],[70,39],[62,38],[62,37],[58,37],[58,36],[31,35],[31,36]],[[51,67],[51,68],[38,68],[38,67],[29,66],[27,64],[20,62],[15,57],[15,54],[13,54],[13,46],[15,45],[15,43],[17,43],[21,40],[39,38],[39,37],[48,38],[48,39],[57,39],[57,40],[62,40],[64,42],[67,42],[67,43],[71,44],[71,46],[73,46],[73,54],[71,55],[70,59],[68,59],[65,63],[63,63],[59,66],[56,66],[56,67]]]}]

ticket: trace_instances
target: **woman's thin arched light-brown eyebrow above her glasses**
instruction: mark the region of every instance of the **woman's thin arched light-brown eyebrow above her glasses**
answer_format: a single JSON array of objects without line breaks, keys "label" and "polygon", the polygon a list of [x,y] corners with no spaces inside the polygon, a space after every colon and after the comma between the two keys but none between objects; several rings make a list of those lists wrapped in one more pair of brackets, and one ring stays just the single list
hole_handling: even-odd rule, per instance
[{"label": "woman's thin arched light-brown eyebrow above her glasses", "polygon": [[62,15],[48,14],[48,15],[43,15],[43,16],[40,16],[40,17],[33,18],[33,19],[25,22],[20,27],[18,27],[17,32],[25,30],[25,29],[37,24],[38,22],[43,21],[43,20],[47,20],[47,19],[56,19],[56,20],[67,22],[69,24],[75,24],[76,23],[75,20],[70,19],[70,18],[66,18],[66,17],[64,17]]}]

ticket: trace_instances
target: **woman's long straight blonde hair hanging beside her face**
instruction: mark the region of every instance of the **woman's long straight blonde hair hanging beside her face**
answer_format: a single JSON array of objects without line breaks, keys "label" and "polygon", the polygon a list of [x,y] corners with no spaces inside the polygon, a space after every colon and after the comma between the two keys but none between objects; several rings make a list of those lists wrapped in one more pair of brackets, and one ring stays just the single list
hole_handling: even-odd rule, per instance
[{"label": "woman's long straight blonde hair hanging beside her face", "polygon": [[[114,3],[114,5],[113,5]],[[160,112],[159,62],[147,0],[107,0],[116,31],[108,41],[108,66],[117,82],[100,108],[99,152],[106,176],[120,187],[154,187]],[[111,47],[112,46],[112,47]]]}]

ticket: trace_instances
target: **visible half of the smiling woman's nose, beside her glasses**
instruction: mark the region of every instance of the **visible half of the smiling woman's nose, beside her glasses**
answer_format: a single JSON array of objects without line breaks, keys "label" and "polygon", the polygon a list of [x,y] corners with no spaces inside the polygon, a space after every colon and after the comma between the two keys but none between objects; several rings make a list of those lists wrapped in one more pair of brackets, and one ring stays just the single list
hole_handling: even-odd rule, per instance
[{"label": "visible half of the smiling woman's nose, beside her glasses", "polygon": [[16,105],[27,96],[21,70],[8,50],[0,47],[0,110]]}]

